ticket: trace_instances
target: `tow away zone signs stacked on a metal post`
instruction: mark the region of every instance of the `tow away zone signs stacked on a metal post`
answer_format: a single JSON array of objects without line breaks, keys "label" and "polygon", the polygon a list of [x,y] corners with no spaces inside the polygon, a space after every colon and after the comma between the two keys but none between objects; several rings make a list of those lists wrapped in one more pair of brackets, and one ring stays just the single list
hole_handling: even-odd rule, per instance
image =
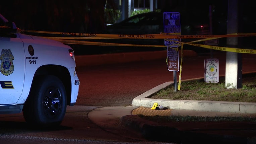
[{"label": "tow away zone signs stacked on a metal post", "polygon": [[[164,32],[165,33],[180,33],[180,13],[179,12],[164,12]],[[177,92],[177,75],[179,71],[179,52],[178,44],[181,39],[165,39],[167,47],[167,63],[168,70],[173,71],[174,91]],[[173,45],[173,46],[172,46]],[[177,50],[175,50],[177,49]]]}]

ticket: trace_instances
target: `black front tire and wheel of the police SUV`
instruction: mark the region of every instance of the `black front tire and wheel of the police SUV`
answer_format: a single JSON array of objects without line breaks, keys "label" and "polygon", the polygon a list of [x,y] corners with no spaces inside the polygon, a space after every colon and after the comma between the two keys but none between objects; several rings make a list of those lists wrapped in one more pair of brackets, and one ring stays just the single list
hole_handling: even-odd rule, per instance
[{"label": "black front tire and wheel of the police SUV", "polygon": [[42,76],[33,81],[24,104],[26,122],[36,126],[59,126],[66,113],[66,91],[56,76]]}]

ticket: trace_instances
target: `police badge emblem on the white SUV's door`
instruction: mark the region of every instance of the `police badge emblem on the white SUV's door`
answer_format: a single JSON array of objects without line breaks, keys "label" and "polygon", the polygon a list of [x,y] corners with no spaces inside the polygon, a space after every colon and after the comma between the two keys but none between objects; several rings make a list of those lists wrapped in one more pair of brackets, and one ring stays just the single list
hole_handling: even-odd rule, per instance
[{"label": "police badge emblem on the white SUV's door", "polygon": [[3,75],[10,75],[14,70],[14,65],[12,63],[12,60],[14,60],[14,57],[11,53],[10,49],[2,49],[1,55],[1,68],[0,71]]}]

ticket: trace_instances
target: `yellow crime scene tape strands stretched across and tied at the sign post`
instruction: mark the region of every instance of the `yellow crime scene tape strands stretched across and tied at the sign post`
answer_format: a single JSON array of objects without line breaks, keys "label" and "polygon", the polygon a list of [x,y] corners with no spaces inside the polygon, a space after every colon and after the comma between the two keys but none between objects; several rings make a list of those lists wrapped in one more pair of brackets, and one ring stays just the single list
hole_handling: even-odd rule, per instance
[{"label": "yellow crime scene tape strands stretched across and tied at the sign post", "polygon": [[[90,34],[90,33],[47,32],[47,31],[31,31],[31,30],[27,30],[25,32],[73,36],[73,37],[45,37],[45,38],[54,39],[56,41],[66,43],[66,44],[80,44],[80,45],[167,47],[164,45],[134,45],[134,44],[90,42],[90,41],[81,41],[81,40],[89,40],[89,39],[165,39],[167,41],[173,41],[175,43],[178,43],[177,44],[178,47],[174,48],[176,51],[178,51],[179,47],[181,47],[181,64],[180,64],[178,90],[180,90],[180,88],[181,88],[181,71],[182,71],[184,44],[192,45],[192,46],[196,46],[196,47],[207,48],[207,49],[212,49],[212,50],[226,51],[226,52],[256,54],[256,50],[253,50],[253,49],[242,49],[242,48],[231,48],[231,47],[220,47],[220,46],[212,46],[212,45],[195,44],[197,42],[203,42],[203,41],[213,40],[213,39],[218,39],[218,38],[254,37],[254,36],[256,36],[256,33],[233,33],[233,34],[227,34],[227,35],[180,35],[180,33],[128,35],[128,34]],[[180,42],[180,41],[174,41],[172,39],[199,39],[199,40],[195,40],[195,41],[191,41],[191,42]],[[167,59],[166,59],[166,61],[167,61]]]}]

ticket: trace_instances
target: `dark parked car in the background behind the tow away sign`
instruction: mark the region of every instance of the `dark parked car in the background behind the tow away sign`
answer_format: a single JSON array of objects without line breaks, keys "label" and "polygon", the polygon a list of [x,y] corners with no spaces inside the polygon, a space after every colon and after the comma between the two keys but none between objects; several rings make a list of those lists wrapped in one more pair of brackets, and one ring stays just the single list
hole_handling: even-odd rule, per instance
[{"label": "dark parked car in the background behind the tow away sign", "polygon": [[[106,31],[109,34],[160,34],[161,32],[164,32],[163,13],[149,12],[138,14],[119,23],[107,25]],[[203,25],[195,22],[184,24],[181,19],[181,34],[207,35],[209,34],[209,26],[208,24]],[[129,39],[122,40],[122,42],[131,44],[164,45],[163,39]]]}]

